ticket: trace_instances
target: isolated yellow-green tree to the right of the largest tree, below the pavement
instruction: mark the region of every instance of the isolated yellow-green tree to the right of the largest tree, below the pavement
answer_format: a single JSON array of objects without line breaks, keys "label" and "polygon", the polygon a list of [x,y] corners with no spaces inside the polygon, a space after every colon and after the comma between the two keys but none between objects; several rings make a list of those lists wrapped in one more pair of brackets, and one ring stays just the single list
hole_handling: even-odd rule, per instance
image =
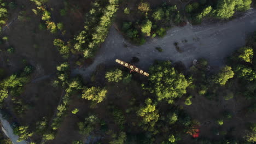
[{"label": "isolated yellow-green tree to the right of the largest tree, below the pavement", "polygon": [[234,77],[234,75],[235,74],[231,70],[231,67],[226,65],[219,71],[218,75],[214,77],[213,81],[221,86],[224,86],[229,79]]}]

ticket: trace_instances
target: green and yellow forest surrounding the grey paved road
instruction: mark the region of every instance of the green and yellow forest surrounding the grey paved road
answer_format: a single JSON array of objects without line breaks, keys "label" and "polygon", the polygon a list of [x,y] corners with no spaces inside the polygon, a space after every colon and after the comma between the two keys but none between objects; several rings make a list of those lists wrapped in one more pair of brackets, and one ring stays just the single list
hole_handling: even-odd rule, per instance
[{"label": "green and yellow forest surrounding the grey paved road", "polygon": [[[256,32],[218,68],[200,57],[189,67],[155,59],[149,77],[117,64],[97,65],[89,79],[73,72],[94,61],[112,26],[142,45],[172,27],[229,21],[254,1],[1,0],[0,5],[0,112],[17,142],[256,142]],[[14,36],[5,31],[10,21],[25,30],[33,26],[28,32],[33,43],[22,49],[26,38],[11,41]],[[133,57],[129,63],[138,61]],[[2,131],[0,143],[11,143]]]}]

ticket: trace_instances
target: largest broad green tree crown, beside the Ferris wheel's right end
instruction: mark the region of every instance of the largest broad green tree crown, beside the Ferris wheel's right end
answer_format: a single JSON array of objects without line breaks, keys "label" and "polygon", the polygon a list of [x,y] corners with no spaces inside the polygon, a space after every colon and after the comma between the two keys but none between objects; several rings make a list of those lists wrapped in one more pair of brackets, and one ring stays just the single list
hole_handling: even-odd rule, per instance
[{"label": "largest broad green tree crown, beside the Ferris wheel's right end", "polygon": [[148,86],[142,84],[142,87],[155,93],[158,100],[166,100],[169,104],[172,104],[174,99],[182,97],[190,85],[190,81],[178,73],[170,61],[158,62],[149,68],[149,73]]}]

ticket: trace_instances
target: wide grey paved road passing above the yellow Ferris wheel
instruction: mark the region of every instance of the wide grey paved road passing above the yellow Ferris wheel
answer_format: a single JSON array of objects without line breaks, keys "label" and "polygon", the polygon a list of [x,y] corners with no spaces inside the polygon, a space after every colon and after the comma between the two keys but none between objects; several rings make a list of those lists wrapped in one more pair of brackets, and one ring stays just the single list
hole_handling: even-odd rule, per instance
[{"label": "wide grey paved road passing above the yellow Ferris wheel", "polygon": [[[98,50],[94,63],[87,68],[74,69],[72,74],[80,74],[86,79],[98,64],[114,65],[116,58],[129,62],[132,57],[139,58],[136,66],[144,70],[153,64],[154,59],[182,61],[188,67],[193,59],[204,57],[209,60],[210,65],[220,66],[224,64],[226,56],[245,45],[246,35],[253,31],[256,31],[255,9],[229,22],[174,27],[164,38],[150,39],[142,46],[129,44],[112,27],[107,39]],[[179,43],[182,53],[177,52],[174,42]],[[164,51],[158,52],[156,46]]]}]

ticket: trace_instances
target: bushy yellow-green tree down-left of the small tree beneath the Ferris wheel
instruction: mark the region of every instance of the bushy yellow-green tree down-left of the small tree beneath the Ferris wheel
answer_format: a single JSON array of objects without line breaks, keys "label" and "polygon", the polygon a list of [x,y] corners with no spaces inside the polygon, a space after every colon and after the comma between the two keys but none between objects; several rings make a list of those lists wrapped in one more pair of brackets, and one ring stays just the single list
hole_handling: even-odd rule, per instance
[{"label": "bushy yellow-green tree down-left of the small tree beneath the Ferris wheel", "polygon": [[101,103],[106,97],[107,89],[100,87],[85,88],[82,94],[82,98]]}]

